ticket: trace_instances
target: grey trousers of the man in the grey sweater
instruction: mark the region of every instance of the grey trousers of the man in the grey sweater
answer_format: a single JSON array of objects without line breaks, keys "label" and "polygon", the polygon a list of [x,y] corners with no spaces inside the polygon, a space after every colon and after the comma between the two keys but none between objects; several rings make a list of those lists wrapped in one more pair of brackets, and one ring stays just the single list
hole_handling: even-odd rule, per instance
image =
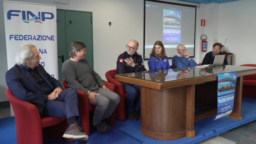
[{"label": "grey trousers of the man in the grey sweater", "polygon": [[[92,124],[98,125],[101,123],[101,120],[111,116],[116,106],[119,104],[120,96],[113,91],[104,90],[103,88],[91,90],[91,92],[100,94],[95,95],[96,105],[92,119]],[[90,101],[89,104],[91,104]]]}]

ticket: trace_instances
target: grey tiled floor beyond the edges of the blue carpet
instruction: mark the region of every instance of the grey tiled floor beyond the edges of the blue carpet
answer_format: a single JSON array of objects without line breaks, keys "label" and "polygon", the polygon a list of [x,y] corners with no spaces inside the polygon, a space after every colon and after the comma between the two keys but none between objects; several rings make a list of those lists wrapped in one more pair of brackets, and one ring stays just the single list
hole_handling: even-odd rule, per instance
[{"label": "grey tiled floor beyond the edges of the blue carpet", "polygon": [[[0,118],[10,117],[10,107],[0,108]],[[255,144],[256,120],[196,144]]]}]

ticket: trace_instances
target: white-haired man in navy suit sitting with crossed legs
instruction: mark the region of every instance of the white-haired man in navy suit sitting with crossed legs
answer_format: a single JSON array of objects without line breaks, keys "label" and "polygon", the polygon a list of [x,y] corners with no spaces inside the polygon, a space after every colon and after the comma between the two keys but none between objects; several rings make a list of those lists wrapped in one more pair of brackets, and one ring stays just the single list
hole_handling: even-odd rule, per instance
[{"label": "white-haired man in navy suit sitting with crossed legs", "polygon": [[[88,144],[88,135],[80,131],[77,91],[62,91],[58,80],[39,64],[41,57],[33,44],[24,44],[15,57],[15,65],[6,72],[6,84],[22,101],[34,104],[41,117],[67,117],[68,128],[63,137]],[[78,126],[79,125],[79,126]]]}]

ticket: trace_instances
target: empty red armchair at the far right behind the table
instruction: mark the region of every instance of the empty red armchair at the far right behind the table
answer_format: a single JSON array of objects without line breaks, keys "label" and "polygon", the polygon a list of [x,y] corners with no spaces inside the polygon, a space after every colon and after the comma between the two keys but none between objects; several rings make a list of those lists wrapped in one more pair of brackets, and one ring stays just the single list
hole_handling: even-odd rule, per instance
[{"label": "empty red armchair at the far right behind the table", "polygon": [[[255,64],[244,64],[240,66],[256,67]],[[243,76],[243,94],[242,97],[256,97],[252,95],[256,89],[256,74]]]}]

